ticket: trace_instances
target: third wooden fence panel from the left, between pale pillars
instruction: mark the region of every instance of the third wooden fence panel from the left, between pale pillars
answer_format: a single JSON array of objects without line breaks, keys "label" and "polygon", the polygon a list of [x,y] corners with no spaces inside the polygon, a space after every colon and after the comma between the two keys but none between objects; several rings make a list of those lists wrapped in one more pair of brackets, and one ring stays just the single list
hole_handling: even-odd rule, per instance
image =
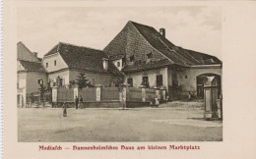
[{"label": "third wooden fence panel from the left, between pale pillars", "polygon": [[120,100],[120,91],[118,87],[102,87],[100,90],[101,101],[118,101]]}]

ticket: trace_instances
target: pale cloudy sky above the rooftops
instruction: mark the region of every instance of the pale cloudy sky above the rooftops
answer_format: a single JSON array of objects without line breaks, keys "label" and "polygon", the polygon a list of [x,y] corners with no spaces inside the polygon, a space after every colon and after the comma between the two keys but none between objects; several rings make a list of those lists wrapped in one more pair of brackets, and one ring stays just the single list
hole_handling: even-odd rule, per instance
[{"label": "pale cloudy sky above the rooftops", "polygon": [[17,42],[39,57],[58,42],[103,49],[128,21],[164,27],[173,44],[222,60],[221,7],[19,8]]}]

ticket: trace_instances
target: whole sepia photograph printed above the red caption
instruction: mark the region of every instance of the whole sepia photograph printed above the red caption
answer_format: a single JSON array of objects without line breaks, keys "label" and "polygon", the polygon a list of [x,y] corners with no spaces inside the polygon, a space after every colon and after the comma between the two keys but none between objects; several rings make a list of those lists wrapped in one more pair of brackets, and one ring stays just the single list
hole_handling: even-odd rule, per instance
[{"label": "whole sepia photograph printed above the red caption", "polygon": [[19,142],[223,142],[220,6],[19,7]]}]

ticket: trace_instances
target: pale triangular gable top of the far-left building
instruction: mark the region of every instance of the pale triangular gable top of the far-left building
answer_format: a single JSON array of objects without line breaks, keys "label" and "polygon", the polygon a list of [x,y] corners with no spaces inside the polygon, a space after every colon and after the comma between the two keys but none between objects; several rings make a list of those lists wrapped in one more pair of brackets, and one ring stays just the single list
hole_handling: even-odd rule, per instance
[{"label": "pale triangular gable top of the far-left building", "polygon": [[22,41],[17,43],[17,59],[31,62],[39,62],[37,57],[32,54],[32,51]]}]

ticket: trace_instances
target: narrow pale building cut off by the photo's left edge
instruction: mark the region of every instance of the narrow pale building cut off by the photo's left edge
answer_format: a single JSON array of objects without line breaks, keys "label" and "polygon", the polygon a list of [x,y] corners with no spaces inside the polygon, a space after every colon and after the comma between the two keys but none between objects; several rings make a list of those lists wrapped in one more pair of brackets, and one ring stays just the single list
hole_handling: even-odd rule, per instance
[{"label": "narrow pale building cut off by the photo's left edge", "polygon": [[47,75],[36,53],[22,42],[17,44],[17,91],[18,105],[25,106],[27,96],[38,93],[38,79],[47,82]]}]

